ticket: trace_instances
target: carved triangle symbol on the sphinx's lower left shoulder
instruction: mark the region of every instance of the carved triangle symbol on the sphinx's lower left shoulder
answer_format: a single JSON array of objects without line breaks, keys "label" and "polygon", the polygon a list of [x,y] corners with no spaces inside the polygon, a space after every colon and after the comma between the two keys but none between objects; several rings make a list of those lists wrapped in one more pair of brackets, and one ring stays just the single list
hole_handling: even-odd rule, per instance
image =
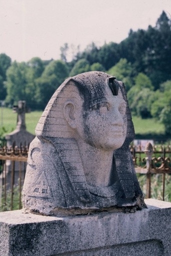
[{"label": "carved triangle symbol on the sphinx's lower left shoulder", "polygon": [[39,178],[35,181],[32,186],[30,196],[38,196],[38,197],[45,197],[51,198],[51,191],[47,182],[47,178],[45,176],[44,171],[41,173]]}]

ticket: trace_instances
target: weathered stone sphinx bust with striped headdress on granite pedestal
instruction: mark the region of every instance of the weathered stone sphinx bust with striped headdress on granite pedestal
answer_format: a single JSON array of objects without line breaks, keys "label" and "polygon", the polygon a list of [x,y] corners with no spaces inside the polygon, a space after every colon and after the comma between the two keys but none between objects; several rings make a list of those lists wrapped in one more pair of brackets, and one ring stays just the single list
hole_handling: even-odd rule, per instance
[{"label": "weathered stone sphinx bust with striped headdress on granite pedestal", "polygon": [[91,71],[66,79],[35,134],[22,192],[25,210],[58,215],[145,207],[128,147],[134,129],[126,92],[115,77]]}]

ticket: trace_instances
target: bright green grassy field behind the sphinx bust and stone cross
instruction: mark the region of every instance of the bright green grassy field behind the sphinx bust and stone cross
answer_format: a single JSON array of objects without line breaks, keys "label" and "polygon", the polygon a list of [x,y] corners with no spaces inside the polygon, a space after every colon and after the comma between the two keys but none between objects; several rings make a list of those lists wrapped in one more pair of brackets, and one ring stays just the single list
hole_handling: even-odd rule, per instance
[{"label": "bright green grassy field behind the sphinx bust and stone cross", "polygon": [[[32,111],[25,114],[25,124],[27,131],[34,134],[35,126],[42,114],[42,111]],[[16,113],[12,112],[11,108],[0,109],[0,133],[2,126],[6,133],[12,131],[16,127]],[[161,123],[154,119],[141,119],[139,117],[132,117],[136,134],[163,134],[164,127]]]}]

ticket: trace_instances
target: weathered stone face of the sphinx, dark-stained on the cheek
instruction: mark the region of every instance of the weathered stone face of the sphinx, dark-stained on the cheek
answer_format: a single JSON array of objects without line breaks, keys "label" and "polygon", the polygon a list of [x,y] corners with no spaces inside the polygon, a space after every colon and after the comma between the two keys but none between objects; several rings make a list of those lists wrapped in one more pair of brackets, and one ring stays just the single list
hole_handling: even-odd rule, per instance
[{"label": "weathered stone face of the sphinx, dark-stained on the cheek", "polygon": [[86,143],[104,150],[119,148],[126,137],[126,104],[119,92],[113,96],[109,88],[105,88],[106,101],[92,109],[79,112],[78,136]]}]

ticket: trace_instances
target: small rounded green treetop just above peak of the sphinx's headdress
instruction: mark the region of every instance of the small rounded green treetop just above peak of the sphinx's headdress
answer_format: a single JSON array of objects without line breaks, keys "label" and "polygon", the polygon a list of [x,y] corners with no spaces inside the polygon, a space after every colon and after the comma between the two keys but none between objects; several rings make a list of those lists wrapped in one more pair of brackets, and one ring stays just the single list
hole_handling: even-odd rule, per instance
[{"label": "small rounded green treetop just above peak of the sphinx's headdress", "polygon": [[86,59],[81,58],[75,63],[75,65],[73,66],[72,70],[69,73],[69,76],[74,76],[76,74],[88,72],[90,70],[91,69],[90,69],[89,62]]}]

